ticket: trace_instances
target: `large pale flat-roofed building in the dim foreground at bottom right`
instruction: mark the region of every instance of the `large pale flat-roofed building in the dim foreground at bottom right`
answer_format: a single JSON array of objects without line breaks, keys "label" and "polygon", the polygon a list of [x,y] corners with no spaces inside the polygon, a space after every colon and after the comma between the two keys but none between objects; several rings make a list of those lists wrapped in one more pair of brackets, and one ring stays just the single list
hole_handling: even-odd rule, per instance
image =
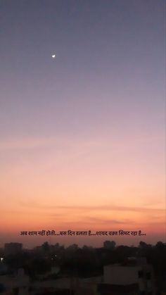
[{"label": "large pale flat-roofed building in the dim foreground at bottom right", "polygon": [[[134,258],[123,265],[106,265],[103,269],[103,293],[101,294],[155,294],[155,280],[152,265]],[[102,286],[100,287],[102,289]],[[112,291],[111,291],[112,289]],[[126,292],[125,292],[126,289]],[[109,291],[108,291],[109,290]],[[114,291],[113,291],[114,290]],[[124,290],[124,292],[122,292]],[[139,292],[139,293],[138,293]],[[100,294],[100,293],[99,293]]]}]

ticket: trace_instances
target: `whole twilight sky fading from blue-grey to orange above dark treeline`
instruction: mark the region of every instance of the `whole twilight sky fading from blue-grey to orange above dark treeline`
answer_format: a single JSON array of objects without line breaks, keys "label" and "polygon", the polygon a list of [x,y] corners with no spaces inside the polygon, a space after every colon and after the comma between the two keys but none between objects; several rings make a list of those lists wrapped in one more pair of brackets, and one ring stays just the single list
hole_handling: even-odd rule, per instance
[{"label": "whole twilight sky fading from blue-grey to orange above dark treeline", "polygon": [[164,0],[0,0],[0,89],[0,246],[166,241]]}]

